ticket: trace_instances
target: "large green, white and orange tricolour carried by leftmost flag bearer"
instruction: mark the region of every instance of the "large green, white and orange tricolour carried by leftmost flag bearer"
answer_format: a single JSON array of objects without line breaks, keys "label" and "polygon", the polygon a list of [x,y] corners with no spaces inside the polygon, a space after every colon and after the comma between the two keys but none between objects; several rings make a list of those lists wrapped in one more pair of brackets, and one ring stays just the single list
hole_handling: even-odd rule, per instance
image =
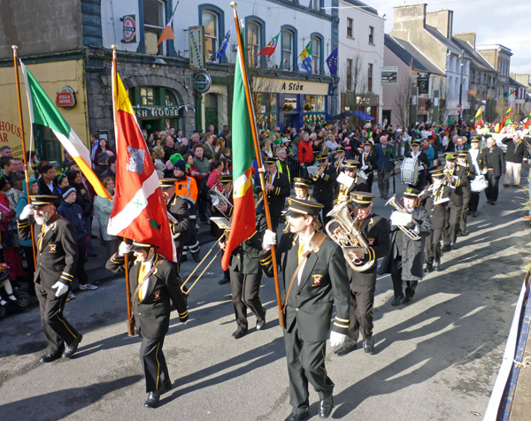
[{"label": "large green, white and orange tricolour carried by leftmost flag bearer", "polygon": [[20,61],[20,67],[24,80],[26,81],[27,103],[29,107],[29,117],[32,124],[36,123],[50,128],[53,134],[58,138],[66,151],[73,157],[75,163],[80,167],[85,178],[96,191],[96,195],[106,197],[112,200],[109,192],[104,188],[96,174],[92,171],[90,162],[90,152],[72,127],[68,125],[58,108],[46,95],[44,89],[35,80],[32,73]]}]

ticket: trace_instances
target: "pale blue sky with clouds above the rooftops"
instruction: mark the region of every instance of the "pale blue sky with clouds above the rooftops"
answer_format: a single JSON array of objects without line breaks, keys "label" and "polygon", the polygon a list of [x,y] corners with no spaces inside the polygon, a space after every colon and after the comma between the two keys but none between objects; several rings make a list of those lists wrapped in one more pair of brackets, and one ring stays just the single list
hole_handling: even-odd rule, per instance
[{"label": "pale blue sky with clouds above the rooftops", "polygon": [[476,44],[502,44],[512,50],[511,72],[531,73],[531,31],[528,0],[361,0],[385,14],[385,33],[393,29],[393,8],[427,4],[427,11],[454,11],[453,33],[475,32]]}]

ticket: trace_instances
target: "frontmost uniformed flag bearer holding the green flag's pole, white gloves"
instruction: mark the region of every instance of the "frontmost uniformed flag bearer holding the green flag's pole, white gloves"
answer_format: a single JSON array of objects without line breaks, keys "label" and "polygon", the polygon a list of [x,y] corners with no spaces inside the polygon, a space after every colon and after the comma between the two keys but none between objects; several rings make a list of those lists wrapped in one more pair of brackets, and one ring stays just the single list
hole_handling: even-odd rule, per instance
[{"label": "frontmost uniformed flag bearer holding the green flag's pole, white gloves", "polygon": [[[319,417],[334,408],[334,383],[325,368],[328,335],[332,347],[342,345],[349,327],[349,280],[342,249],[319,233],[322,204],[314,199],[289,199],[290,233],[282,235],[277,249],[284,274],[286,329],[284,341],[289,373],[289,402],[293,407],[286,421],[309,417],[308,382],[319,394]],[[266,230],[260,264],[273,275],[271,245],[276,234]],[[330,332],[332,307],[335,320]]]}]

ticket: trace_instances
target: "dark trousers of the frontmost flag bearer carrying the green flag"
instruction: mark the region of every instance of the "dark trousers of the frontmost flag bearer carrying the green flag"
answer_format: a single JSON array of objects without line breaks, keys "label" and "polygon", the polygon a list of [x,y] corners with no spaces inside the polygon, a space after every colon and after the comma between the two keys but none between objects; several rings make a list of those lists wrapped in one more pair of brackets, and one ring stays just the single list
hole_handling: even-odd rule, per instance
[{"label": "dark trousers of the frontmost flag bearer carrying the green flag", "polygon": [[325,368],[327,341],[303,341],[295,325],[291,332],[284,330],[284,343],[289,374],[289,403],[295,413],[305,412],[310,404],[308,382],[320,399],[334,390],[334,383],[327,376]]}]

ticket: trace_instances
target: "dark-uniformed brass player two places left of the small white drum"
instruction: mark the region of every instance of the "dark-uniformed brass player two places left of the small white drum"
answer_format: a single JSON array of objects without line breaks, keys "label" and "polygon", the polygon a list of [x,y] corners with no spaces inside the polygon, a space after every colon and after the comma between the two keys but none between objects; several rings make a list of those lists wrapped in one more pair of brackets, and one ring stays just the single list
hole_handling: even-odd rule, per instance
[{"label": "dark-uniformed brass player two places left of the small white drum", "polygon": [[446,183],[451,188],[450,203],[446,211],[447,222],[443,231],[443,251],[449,251],[455,247],[458,239],[459,219],[463,209],[463,185],[466,185],[466,170],[458,167],[456,161],[457,152],[446,154],[446,167],[444,174]]}]

